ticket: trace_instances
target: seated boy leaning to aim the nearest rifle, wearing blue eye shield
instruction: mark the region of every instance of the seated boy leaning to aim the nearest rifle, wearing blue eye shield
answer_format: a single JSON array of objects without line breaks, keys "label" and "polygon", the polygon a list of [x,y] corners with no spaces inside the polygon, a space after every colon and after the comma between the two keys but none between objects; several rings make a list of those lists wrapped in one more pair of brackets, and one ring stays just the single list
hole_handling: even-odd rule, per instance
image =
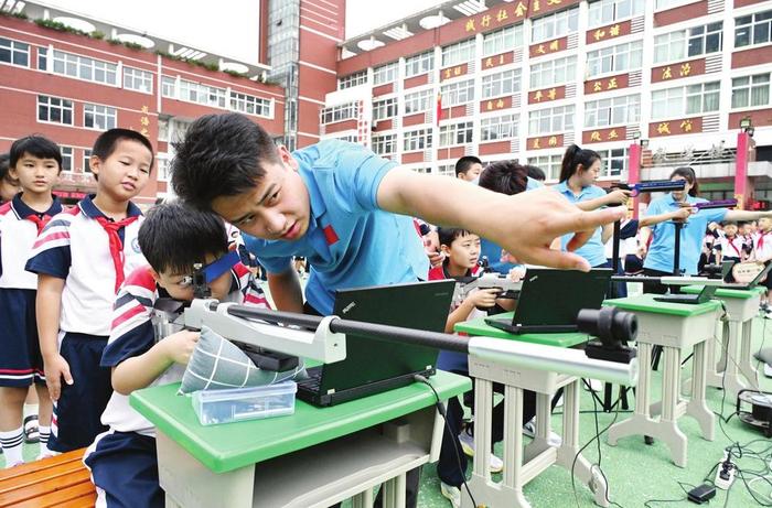
[{"label": "seated boy leaning to aim the nearest rifle, wearing blue eye shield", "polygon": [[268,307],[251,272],[237,251],[228,248],[228,241],[219,217],[180,203],[152,208],[139,229],[139,245],[150,266],[129,274],[116,296],[101,357],[101,367],[112,369],[115,391],[101,415],[103,424],[110,429],[96,437],[84,458],[97,486],[97,506],[164,505],[156,429],[129,406],[129,394],[180,381],[200,334],[180,329],[158,336],[154,309],[170,310],[176,304],[171,312],[181,314],[194,298],[193,272],[199,263],[204,266],[213,299]]}]

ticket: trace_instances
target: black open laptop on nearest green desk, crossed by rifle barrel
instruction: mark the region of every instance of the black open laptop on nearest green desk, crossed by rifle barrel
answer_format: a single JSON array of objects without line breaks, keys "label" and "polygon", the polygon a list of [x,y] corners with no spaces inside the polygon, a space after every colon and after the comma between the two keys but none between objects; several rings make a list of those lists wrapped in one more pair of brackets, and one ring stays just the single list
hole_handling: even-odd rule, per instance
[{"label": "black open laptop on nearest green desk, crossed by rifle barrel", "polygon": [[[415,282],[339,290],[333,314],[407,328],[443,332],[455,281]],[[314,406],[339,404],[414,382],[435,374],[438,350],[425,346],[346,335],[346,358],[308,369],[298,398]]]}]

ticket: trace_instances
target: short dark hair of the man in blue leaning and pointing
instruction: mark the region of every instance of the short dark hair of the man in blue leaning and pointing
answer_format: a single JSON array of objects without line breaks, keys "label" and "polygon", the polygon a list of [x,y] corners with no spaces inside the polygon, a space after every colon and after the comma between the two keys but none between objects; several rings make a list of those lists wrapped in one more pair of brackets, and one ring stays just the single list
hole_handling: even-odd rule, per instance
[{"label": "short dark hair of the man in blue leaning and pointing", "polygon": [[265,162],[279,162],[276,144],[244,115],[206,115],[173,143],[172,186],[180,198],[210,208],[219,196],[235,196],[257,185]]}]

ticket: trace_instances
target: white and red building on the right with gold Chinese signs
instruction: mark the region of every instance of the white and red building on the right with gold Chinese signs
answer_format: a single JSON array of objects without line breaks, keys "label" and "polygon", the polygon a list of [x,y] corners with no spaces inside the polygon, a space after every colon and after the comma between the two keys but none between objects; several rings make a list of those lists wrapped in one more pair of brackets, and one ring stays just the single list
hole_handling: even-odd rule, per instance
[{"label": "white and red building on the right with gold Chinese signs", "polygon": [[635,177],[689,164],[708,197],[772,199],[772,1],[449,1],[345,41],[336,68],[322,138],[417,171],[478,155],[556,182],[578,143],[611,182],[632,147]]}]

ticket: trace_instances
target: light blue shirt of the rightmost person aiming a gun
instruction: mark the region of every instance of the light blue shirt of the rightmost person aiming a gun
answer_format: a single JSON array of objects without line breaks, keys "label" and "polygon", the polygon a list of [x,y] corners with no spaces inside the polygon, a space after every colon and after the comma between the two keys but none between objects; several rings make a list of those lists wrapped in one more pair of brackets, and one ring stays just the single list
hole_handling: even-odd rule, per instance
[{"label": "light blue shirt of the rightmost person aiming a gun", "polygon": [[[701,197],[686,196],[688,203],[706,203]],[[648,204],[646,216],[666,214],[678,209],[678,203],[673,199],[672,194],[660,197]],[[678,267],[687,275],[697,273],[697,263],[703,248],[703,238],[709,223],[720,223],[726,217],[726,208],[705,209],[689,217],[680,230],[680,256]],[[660,223],[652,228],[652,242],[648,246],[646,260],[643,268],[660,270],[664,272],[673,271],[673,258],[675,256],[675,225],[668,220]]]}]

